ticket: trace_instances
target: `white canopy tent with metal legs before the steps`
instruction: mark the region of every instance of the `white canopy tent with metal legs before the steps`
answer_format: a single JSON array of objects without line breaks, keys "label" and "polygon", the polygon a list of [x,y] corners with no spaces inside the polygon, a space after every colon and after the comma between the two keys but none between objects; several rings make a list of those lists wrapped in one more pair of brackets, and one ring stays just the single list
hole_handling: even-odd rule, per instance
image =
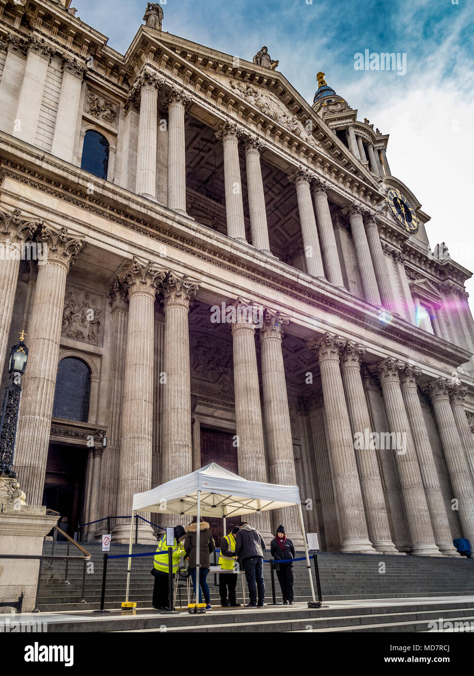
[{"label": "white canopy tent with metal legs before the steps", "polygon": [[[225,532],[226,520],[229,516],[260,514],[260,512],[268,512],[289,505],[298,506],[300,513],[301,532],[306,552],[306,565],[310,577],[312,599],[315,601],[310,557],[298,486],[281,486],[272,483],[260,483],[259,481],[247,481],[247,479],[242,479],[239,475],[220,467],[215,462],[185,475],[185,477],[172,479],[172,481],[168,481],[150,491],[145,491],[145,493],[135,493],[133,496],[128,553],[132,553],[133,514],[137,511],[179,514],[180,516],[189,514],[197,516],[198,523],[201,516],[213,518],[220,516],[224,521]],[[199,567],[199,528],[197,529],[196,566]],[[126,601],[128,601],[128,588],[130,585],[130,568],[131,559],[129,558]]]}]

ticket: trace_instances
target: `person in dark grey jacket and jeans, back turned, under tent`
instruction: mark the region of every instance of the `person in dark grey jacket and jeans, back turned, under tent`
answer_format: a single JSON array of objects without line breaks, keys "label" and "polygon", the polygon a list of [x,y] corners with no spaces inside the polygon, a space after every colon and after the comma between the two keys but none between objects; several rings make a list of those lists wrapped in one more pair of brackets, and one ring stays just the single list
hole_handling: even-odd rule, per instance
[{"label": "person in dark grey jacket and jeans, back turned, under tent", "polygon": [[[243,521],[235,535],[235,556],[245,570],[245,579],[249,588],[250,603],[247,608],[263,608],[265,601],[265,583],[263,580],[263,550],[265,541],[258,530]],[[258,601],[257,601],[258,596]]]}]

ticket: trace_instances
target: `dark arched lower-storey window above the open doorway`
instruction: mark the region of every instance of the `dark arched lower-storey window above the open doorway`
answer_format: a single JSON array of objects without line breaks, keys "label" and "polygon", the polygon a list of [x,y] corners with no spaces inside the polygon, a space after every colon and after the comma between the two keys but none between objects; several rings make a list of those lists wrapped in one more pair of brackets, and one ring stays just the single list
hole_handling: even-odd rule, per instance
[{"label": "dark arched lower-storey window above the open doorway", "polygon": [[87,423],[90,394],[91,370],[89,366],[74,357],[62,359],[57,368],[53,418]]}]

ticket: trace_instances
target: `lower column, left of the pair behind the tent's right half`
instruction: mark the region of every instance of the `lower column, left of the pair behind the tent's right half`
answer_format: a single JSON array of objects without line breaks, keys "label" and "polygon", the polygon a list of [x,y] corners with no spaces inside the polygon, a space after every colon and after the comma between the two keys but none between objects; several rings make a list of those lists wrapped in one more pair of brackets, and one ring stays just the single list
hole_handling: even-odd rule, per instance
[{"label": "lower column, left of the pair behind the tent's right half", "polygon": [[[235,303],[235,322],[232,323],[235,425],[237,432],[237,460],[239,475],[249,481],[266,483],[265,449],[263,441],[260,388],[258,386],[255,324],[261,318],[262,308],[241,299]],[[294,471],[294,470],[293,470]],[[272,537],[268,512],[249,516],[249,523]]]}]

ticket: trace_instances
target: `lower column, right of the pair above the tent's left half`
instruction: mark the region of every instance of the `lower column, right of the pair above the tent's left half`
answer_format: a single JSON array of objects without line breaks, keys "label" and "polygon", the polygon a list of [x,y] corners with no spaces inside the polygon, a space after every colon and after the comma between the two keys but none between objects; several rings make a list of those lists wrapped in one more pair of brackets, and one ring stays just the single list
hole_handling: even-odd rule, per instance
[{"label": "lower column, right of the pair above the tent's left half", "polygon": [[161,481],[193,471],[188,314],[197,281],[170,272],[162,284],[164,308]]}]

